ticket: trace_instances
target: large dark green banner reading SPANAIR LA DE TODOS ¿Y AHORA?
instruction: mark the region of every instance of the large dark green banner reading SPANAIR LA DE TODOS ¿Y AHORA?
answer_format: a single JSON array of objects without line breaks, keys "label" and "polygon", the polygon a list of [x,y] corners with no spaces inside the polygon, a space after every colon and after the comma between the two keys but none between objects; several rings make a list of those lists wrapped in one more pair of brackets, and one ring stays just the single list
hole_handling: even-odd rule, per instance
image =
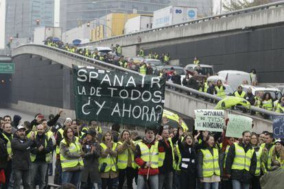
[{"label": "large dark green banner reading SPANAIR LA DE TODOS \u00bfY AHORA?", "polygon": [[161,122],[164,77],[73,66],[73,79],[79,119],[143,127]]}]

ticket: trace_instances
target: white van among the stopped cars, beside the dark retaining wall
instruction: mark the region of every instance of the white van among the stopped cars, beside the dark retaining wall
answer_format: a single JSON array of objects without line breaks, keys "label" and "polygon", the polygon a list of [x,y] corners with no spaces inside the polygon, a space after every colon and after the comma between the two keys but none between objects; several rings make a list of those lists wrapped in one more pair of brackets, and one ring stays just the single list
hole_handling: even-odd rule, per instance
[{"label": "white van among the stopped cars, beside the dark retaining wall", "polygon": [[233,90],[237,89],[244,81],[248,81],[248,85],[252,84],[250,73],[244,71],[220,71],[217,75],[225,78],[225,83],[230,85]]}]

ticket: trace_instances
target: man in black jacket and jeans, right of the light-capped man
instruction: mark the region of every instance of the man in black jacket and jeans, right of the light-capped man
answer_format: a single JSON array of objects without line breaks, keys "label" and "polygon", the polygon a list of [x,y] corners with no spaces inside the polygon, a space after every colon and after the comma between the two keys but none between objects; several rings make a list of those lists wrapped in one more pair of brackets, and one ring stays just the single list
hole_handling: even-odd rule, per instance
[{"label": "man in black jacket and jeans, right of the light-capped man", "polygon": [[49,153],[53,150],[51,138],[45,134],[43,125],[36,126],[36,136],[34,138],[36,147],[31,150],[31,188],[36,188],[36,179],[38,178],[39,188],[45,188],[45,175],[47,174],[47,164],[51,161]]}]

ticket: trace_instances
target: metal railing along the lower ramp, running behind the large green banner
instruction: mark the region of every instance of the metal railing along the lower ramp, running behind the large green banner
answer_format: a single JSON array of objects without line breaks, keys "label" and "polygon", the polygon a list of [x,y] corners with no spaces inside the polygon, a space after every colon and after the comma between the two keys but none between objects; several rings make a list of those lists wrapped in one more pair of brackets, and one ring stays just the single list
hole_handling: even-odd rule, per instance
[{"label": "metal railing along the lower ramp, running behind the large green banner", "polygon": [[[104,69],[108,69],[108,70],[115,70],[115,71],[139,74],[136,71],[132,71],[132,70],[129,70],[129,69],[126,69],[126,68],[122,68],[122,67],[116,66],[114,64],[102,62],[102,61],[99,61],[99,60],[95,60],[93,58],[88,58],[88,57],[86,57],[84,55],[80,55],[78,53],[71,53],[71,52],[66,51],[64,49],[59,49],[59,48],[56,48],[56,47],[50,47],[50,46],[47,46],[47,45],[27,44],[27,45],[22,45],[22,46],[17,47],[15,49],[15,51],[17,49],[25,48],[25,47],[38,47],[38,48],[43,48],[43,50],[49,49],[51,51],[56,51],[58,53],[61,53],[62,55],[67,55],[67,56],[69,56],[71,58],[76,58],[76,59],[82,60],[82,61],[86,62],[87,64],[89,64],[90,66],[97,66],[98,68],[104,68]],[[19,55],[19,54],[16,54],[16,55]],[[14,56],[13,53],[12,53],[12,56]],[[211,95],[211,94],[208,94],[206,92],[200,92],[200,91],[195,90],[193,88],[180,86],[178,84],[173,84],[173,83],[171,83],[169,81],[166,82],[166,85],[167,85],[167,89],[166,90],[172,90],[171,88],[178,88],[180,90],[180,92],[186,92],[186,93],[191,92],[193,95],[198,95],[198,97],[203,97],[203,98],[206,98],[206,99],[209,99],[209,100],[212,99],[212,100],[215,100],[215,101],[222,100],[222,98],[217,97],[215,95]],[[191,95],[191,97],[193,97],[193,95]],[[280,114],[280,113],[277,113],[277,112],[273,112],[273,111],[270,111],[270,110],[265,110],[263,108],[258,108],[258,107],[255,107],[255,106],[250,106],[250,110],[255,111],[255,112],[259,112],[261,114],[267,114],[268,116],[283,115],[283,114]]]}]

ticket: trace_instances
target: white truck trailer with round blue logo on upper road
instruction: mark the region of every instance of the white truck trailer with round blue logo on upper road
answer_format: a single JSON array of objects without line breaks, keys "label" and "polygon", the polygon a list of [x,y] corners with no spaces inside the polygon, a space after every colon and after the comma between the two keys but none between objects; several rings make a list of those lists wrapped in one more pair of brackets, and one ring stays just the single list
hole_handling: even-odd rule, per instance
[{"label": "white truck trailer with round blue logo on upper road", "polygon": [[153,28],[165,27],[197,18],[197,8],[169,6],[154,11]]}]

